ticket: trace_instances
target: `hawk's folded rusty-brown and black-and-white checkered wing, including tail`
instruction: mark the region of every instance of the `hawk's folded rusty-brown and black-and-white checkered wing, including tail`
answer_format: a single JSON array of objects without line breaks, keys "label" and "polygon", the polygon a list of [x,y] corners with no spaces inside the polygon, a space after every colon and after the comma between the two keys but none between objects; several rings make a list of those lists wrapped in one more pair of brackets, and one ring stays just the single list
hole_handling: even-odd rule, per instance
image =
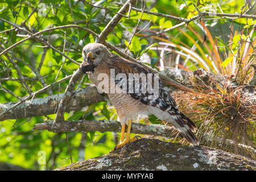
[{"label": "hawk's folded rusty-brown and black-and-white checkered wing, including tail", "polygon": [[[192,144],[198,144],[197,139],[192,133],[192,131],[196,131],[195,123],[193,123],[191,119],[186,117],[178,110],[176,102],[174,101],[170,93],[168,93],[164,89],[164,86],[160,79],[158,80],[158,82],[155,81],[154,78],[158,78],[158,75],[156,75],[155,73],[151,73],[139,64],[122,59],[117,55],[112,54],[111,59],[112,61],[110,62],[113,64],[110,64],[109,68],[115,70],[115,76],[117,76],[118,73],[124,73],[127,77],[126,86],[123,85],[123,83],[125,83],[125,80],[123,80],[123,78],[121,79],[115,77],[115,84],[119,85],[122,90],[124,90],[135,100],[141,101],[145,105],[156,107],[164,111],[164,113],[170,114],[170,119],[167,120],[167,122],[171,122],[180,131],[181,135],[183,135],[183,137],[188,140],[188,142]],[[144,73],[144,75],[151,75],[153,91],[154,88],[158,87],[158,94],[156,95],[156,97],[154,96],[154,93],[148,92],[152,90],[146,89],[146,92],[145,90],[143,90],[145,85],[143,84],[141,78],[139,78],[139,82],[136,82],[136,78],[129,77],[129,73]],[[132,89],[129,89],[129,83],[132,83]]]}]

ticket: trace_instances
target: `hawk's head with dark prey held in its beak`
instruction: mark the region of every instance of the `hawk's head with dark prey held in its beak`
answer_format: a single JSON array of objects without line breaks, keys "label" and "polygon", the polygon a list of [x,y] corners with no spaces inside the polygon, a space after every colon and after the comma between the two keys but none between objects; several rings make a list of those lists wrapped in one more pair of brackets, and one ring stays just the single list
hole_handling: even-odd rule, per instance
[{"label": "hawk's head with dark prey held in its beak", "polygon": [[93,72],[97,63],[105,60],[109,57],[110,52],[106,46],[99,43],[89,43],[84,48],[82,48],[82,57],[84,62],[81,65],[82,71],[87,73],[89,71]]}]

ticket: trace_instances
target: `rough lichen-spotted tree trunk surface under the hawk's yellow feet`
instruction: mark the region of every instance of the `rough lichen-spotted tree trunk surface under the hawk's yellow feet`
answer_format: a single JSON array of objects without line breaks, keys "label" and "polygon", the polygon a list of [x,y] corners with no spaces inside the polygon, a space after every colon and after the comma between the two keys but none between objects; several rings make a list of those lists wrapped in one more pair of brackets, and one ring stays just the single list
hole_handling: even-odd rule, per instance
[{"label": "rough lichen-spotted tree trunk surface under the hawk's yellow feet", "polygon": [[55,170],[256,170],[256,161],[205,146],[138,139],[109,154]]}]

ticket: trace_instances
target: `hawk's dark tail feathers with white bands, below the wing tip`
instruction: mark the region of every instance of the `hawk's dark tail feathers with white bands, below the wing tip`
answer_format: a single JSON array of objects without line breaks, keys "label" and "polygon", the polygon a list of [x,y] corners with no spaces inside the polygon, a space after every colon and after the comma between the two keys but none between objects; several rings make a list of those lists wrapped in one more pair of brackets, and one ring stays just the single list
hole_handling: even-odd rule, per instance
[{"label": "hawk's dark tail feathers with white bands, below the wing tip", "polygon": [[[171,114],[171,113],[170,113]],[[177,115],[172,115],[172,121],[170,121],[179,133],[191,144],[199,145],[199,140],[195,137],[193,132],[196,131],[196,125],[184,114],[180,113]]]}]

